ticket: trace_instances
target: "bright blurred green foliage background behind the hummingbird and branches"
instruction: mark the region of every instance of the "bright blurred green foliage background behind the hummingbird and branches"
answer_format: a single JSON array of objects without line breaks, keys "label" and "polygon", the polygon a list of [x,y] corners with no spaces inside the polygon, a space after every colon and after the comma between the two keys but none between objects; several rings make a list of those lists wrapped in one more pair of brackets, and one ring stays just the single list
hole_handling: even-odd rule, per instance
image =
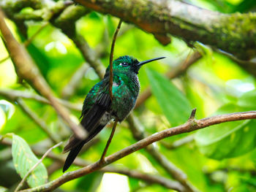
[{"label": "bright blurred green foliage background behind the hummingbird and branches", "polygon": [[[187,3],[224,13],[253,12],[256,7],[256,1],[253,0],[195,0]],[[46,4],[50,7],[56,2],[46,1]],[[24,14],[32,11],[31,7],[22,9]],[[56,26],[45,21],[27,20],[25,37],[17,23],[6,21],[20,43],[31,39],[27,45],[29,54],[56,96],[74,104],[69,110],[72,119],[79,122],[83,99],[91,87],[99,82],[98,74],[85,61],[72,39]],[[110,45],[117,23],[117,18],[98,12],[89,12],[75,23],[77,33],[86,39],[95,57],[99,58],[105,67],[108,66]],[[29,84],[19,80],[8,55],[1,40],[0,134],[17,134],[29,143],[32,150],[37,152],[34,152],[37,156],[40,156],[53,142],[29,113],[37,115],[58,141],[67,140],[71,131],[50,105],[37,99],[24,99],[26,94],[37,93]],[[139,106],[133,112],[135,120],[138,120],[136,124],[145,135],[185,123],[195,107],[197,119],[256,108],[255,76],[246,72],[227,55],[214,52],[199,42],[192,49],[181,39],[171,37],[171,43],[163,46],[152,34],[147,34],[131,24],[122,23],[116,40],[114,59],[121,55],[132,55],[139,61],[166,57],[143,66],[138,74],[140,93],[145,93],[148,88],[152,90],[152,95],[148,99],[140,100]],[[18,101],[11,99],[15,91],[21,91],[17,92],[20,95]],[[103,129],[97,138],[86,146],[83,153],[80,153],[80,158],[88,162],[99,160],[111,126]],[[137,142],[138,138],[134,137],[129,126],[127,121],[118,124],[108,155]],[[200,191],[256,191],[255,126],[255,120],[222,123],[163,139],[154,144],[154,149],[187,174],[189,183]],[[53,156],[59,154],[61,149],[53,150]],[[59,156],[62,157],[62,154]],[[48,169],[49,180],[62,175],[63,162],[57,161],[56,157],[45,158],[43,164]],[[144,149],[112,165],[118,169],[137,170],[171,178],[165,166]],[[78,168],[78,165],[72,165],[69,171]],[[4,180],[7,173],[12,175],[8,177],[8,181]],[[0,144],[0,185],[4,188],[14,188],[19,181],[20,177],[12,164],[10,140],[3,139]],[[163,185],[147,183],[145,180],[116,172],[94,172],[65,183],[58,190],[172,191]]]}]

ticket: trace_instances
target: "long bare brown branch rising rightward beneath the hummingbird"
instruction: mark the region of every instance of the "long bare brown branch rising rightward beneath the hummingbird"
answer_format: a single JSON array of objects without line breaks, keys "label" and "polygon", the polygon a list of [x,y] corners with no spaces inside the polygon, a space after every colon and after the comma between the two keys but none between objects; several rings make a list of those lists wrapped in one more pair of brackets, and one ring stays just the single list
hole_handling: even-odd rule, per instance
[{"label": "long bare brown branch rising rightward beneath the hummingbird", "polygon": [[190,120],[187,123],[184,123],[181,126],[176,126],[173,128],[167,128],[164,131],[160,131],[155,133],[145,139],[136,142],[129,147],[124,148],[123,150],[119,150],[112,155],[109,155],[105,158],[104,164],[100,164],[100,161],[97,161],[94,164],[90,164],[89,166],[83,167],[82,169],[78,169],[74,172],[67,172],[63,174],[56,180],[51,181],[50,183],[46,183],[45,185],[40,185],[36,188],[30,188],[23,190],[23,192],[32,192],[32,191],[53,191],[58,188],[60,185],[67,183],[69,180],[74,180],[75,178],[82,177],[83,175],[94,172],[98,169],[101,169],[103,166],[107,166],[108,164],[117,161],[120,158],[124,158],[125,156],[134,153],[137,150],[140,150],[148,145],[151,145],[154,142],[157,142],[166,137],[170,137],[177,134],[183,134],[191,131],[195,131],[200,128],[205,128],[208,126],[216,125],[219,123],[225,123],[229,121],[235,120],[246,120],[246,119],[256,119],[256,111],[250,112],[235,112],[226,115],[217,115],[211,118],[203,118],[200,120]]}]

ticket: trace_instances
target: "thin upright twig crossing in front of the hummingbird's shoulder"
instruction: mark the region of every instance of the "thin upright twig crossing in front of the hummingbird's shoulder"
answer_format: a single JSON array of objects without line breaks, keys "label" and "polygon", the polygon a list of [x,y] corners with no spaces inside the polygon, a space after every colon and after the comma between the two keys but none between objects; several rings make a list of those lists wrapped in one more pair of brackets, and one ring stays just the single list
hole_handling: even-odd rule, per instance
[{"label": "thin upright twig crossing in front of the hummingbird's shoulder", "polygon": [[121,27],[121,22],[122,20],[119,20],[118,26],[116,28],[115,34],[113,36],[113,41],[111,45],[111,50],[110,50],[110,56],[109,56],[109,93],[110,93],[110,99],[112,101],[113,96],[112,96],[112,86],[113,86],[113,53],[114,53],[114,48],[115,48],[115,43],[116,43],[116,37],[118,34],[118,31]]}]

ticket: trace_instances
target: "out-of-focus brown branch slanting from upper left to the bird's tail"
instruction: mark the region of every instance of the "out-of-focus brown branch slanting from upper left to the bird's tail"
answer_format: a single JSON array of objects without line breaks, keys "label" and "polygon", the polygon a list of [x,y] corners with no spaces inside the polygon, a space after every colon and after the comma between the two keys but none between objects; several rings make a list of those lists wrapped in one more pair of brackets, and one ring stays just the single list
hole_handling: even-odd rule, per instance
[{"label": "out-of-focus brown branch slanting from upper left to the bird's tail", "polygon": [[72,129],[78,138],[85,138],[87,135],[86,130],[69,118],[69,112],[61,104],[59,104],[59,101],[53,96],[48,83],[42,77],[42,74],[40,74],[39,69],[34,64],[34,61],[29,53],[26,52],[25,47],[20,45],[12,36],[10,29],[4,22],[4,13],[1,11],[1,8],[0,30],[18,76],[29,82],[34,89],[36,89],[42,94],[42,96],[45,96],[45,98],[50,101],[50,104],[54,107],[56,112],[61,116],[61,118],[64,119],[69,128]]}]

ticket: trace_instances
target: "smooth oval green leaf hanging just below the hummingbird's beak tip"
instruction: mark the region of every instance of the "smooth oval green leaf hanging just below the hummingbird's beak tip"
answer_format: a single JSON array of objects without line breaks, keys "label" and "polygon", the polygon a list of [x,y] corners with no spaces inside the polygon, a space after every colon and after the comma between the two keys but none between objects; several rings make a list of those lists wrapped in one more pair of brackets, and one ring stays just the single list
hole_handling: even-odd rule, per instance
[{"label": "smooth oval green leaf hanging just below the hummingbird's beak tip", "polygon": [[147,70],[151,90],[157,98],[162,112],[172,126],[178,126],[187,121],[191,106],[183,93],[162,74]]}]

